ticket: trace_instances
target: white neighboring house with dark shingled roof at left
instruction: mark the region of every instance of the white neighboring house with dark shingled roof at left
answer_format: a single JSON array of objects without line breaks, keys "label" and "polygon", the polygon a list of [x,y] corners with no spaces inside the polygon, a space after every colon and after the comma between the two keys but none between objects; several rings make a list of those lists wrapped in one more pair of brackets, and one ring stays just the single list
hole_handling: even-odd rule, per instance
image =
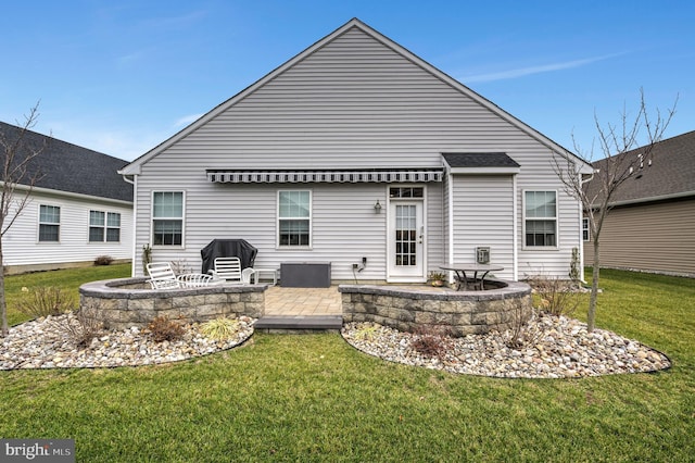
[{"label": "white neighboring house with dark shingled roof at left", "polygon": [[[0,123],[3,139],[16,140],[18,133],[20,127]],[[28,203],[2,237],[5,272],[91,264],[101,255],[129,261],[132,185],[117,173],[127,162],[31,130],[24,143],[46,143],[46,149],[30,161],[15,191],[16,201],[27,192],[27,179],[38,176]]]}]

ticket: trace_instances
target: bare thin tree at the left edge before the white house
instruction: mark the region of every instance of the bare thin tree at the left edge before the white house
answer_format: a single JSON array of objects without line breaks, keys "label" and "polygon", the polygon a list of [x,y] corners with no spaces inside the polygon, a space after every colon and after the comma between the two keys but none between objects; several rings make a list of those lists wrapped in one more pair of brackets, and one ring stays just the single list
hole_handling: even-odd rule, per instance
[{"label": "bare thin tree at the left edge before the white house", "polygon": [[38,103],[24,116],[24,122],[18,123],[7,133],[0,132],[0,157],[2,164],[2,190],[0,192],[0,312],[2,317],[2,336],[9,333],[8,303],[4,297],[4,254],[2,237],[12,227],[22,211],[27,205],[34,185],[42,176],[38,171],[31,172],[33,161],[40,155],[47,147],[43,139],[39,145],[29,143],[27,133],[36,125],[38,120]]}]

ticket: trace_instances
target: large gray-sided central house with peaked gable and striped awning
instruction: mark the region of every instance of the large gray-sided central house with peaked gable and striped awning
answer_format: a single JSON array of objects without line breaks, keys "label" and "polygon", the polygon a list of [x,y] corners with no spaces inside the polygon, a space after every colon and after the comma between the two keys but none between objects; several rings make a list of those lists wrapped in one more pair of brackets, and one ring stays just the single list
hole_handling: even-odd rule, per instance
[{"label": "large gray-sided central house with peaked gable and striped awning", "polygon": [[352,20],[122,170],[134,273],[144,245],[192,270],[212,239],[243,238],[256,267],[330,262],[333,283],[425,281],[478,247],[498,277],[567,277],[581,208],[554,155],[591,172]]}]

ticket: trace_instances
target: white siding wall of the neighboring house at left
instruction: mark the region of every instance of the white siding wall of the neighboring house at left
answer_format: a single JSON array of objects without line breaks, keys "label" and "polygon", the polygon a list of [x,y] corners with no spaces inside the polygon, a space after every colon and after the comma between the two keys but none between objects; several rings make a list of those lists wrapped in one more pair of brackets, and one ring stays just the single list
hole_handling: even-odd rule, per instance
[{"label": "white siding wall of the neighboring house at left", "polygon": [[[39,207],[41,204],[59,207],[61,210],[59,242],[39,242]],[[90,210],[121,214],[119,242],[89,242]],[[100,255],[130,259],[132,208],[97,198],[81,200],[60,193],[34,192],[30,202],[2,238],[2,245],[5,266],[89,262]]]}]

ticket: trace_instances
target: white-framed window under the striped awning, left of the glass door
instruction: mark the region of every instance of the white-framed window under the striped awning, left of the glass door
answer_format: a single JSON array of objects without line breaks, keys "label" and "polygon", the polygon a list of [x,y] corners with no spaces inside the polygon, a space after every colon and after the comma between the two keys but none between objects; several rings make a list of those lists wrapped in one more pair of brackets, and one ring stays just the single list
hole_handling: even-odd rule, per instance
[{"label": "white-framed window under the striped awning, left of the glass door", "polygon": [[278,191],[278,246],[311,245],[312,192]]}]

